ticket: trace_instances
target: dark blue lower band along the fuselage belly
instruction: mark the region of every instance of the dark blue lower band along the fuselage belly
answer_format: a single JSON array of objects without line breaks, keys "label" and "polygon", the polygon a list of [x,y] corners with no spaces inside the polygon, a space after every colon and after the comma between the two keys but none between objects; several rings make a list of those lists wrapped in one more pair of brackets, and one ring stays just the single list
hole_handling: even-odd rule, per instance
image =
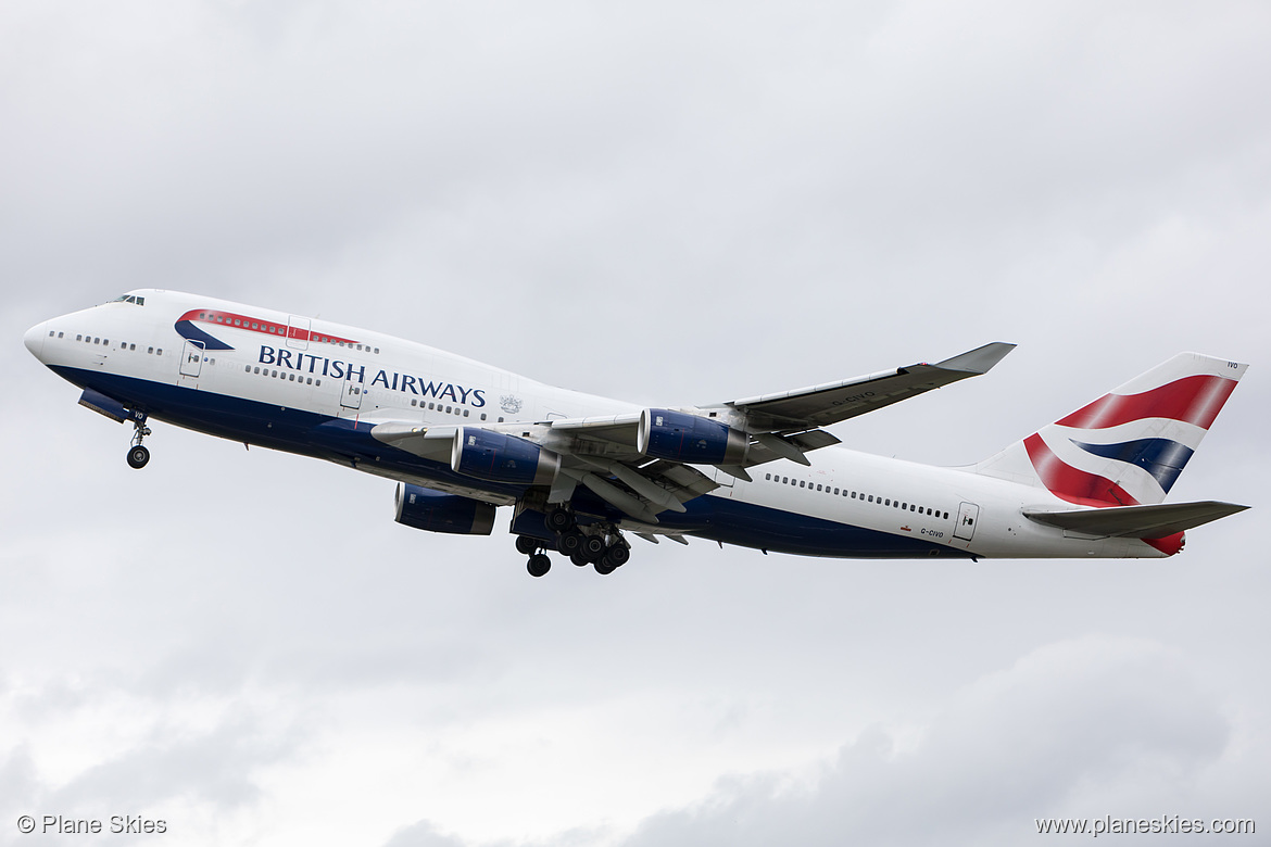
[{"label": "dark blue lower band along the fuselage belly", "polygon": [[[455,474],[446,462],[435,462],[385,444],[371,436],[371,424],[347,418],[283,409],[212,391],[196,391],[179,385],[51,366],[62,378],[94,389],[128,409],[145,411],[196,432],[230,441],[249,442],[342,465],[374,462],[386,472],[407,474],[427,485],[442,481],[505,497],[520,497],[525,486],[486,483]],[[574,508],[586,514],[620,521],[604,500],[580,488]],[[797,512],[744,503],[728,497],[703,495],[684,504],[686,512],[662,512],[661,526],[742,547],[806,556],[860,559],[913,559],[924,555],[967,557],[971,554],[921,538],[826,521]]]}]

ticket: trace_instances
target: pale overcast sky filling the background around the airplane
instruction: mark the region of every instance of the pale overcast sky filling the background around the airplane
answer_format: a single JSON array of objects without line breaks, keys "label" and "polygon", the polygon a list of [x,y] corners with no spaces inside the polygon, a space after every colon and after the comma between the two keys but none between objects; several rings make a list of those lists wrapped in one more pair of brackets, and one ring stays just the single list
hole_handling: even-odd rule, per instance
[{"label": "pale overcast sky filling the background around the airplane", "polygon": [[[1263,839],[1268,43],[1262,3],[0,4],[0,843]],[[834,428],[943,465],[1195,349],[1252,367],[1171,499],[1254,509],[1167,561],[535,580],[506,514],[408,530],[346,469],[156,423],[130,470],[20,338],[137,287],[657,405],[1018,343]]]}]

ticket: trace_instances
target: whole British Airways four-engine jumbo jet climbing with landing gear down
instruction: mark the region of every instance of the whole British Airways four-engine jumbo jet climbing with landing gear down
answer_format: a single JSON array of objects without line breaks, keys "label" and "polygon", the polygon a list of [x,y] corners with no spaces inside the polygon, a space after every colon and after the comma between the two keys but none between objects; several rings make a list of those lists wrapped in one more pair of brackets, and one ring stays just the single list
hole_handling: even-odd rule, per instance
[{"label": "whole British Airways four-engine jumbo jet climbing with landing gear down", "polygon": [[628,536],[826,557],[1164,557],[1248,507],[1164,503],[1247,364],[1179,353],[975,465],[848,450],[825,428],[986,373],[1013,344],[691,408],[558,389],[423,344],[200,295],[131,291],[27,348],[80,405],[395,480],[395,519],[610,574]]}]

